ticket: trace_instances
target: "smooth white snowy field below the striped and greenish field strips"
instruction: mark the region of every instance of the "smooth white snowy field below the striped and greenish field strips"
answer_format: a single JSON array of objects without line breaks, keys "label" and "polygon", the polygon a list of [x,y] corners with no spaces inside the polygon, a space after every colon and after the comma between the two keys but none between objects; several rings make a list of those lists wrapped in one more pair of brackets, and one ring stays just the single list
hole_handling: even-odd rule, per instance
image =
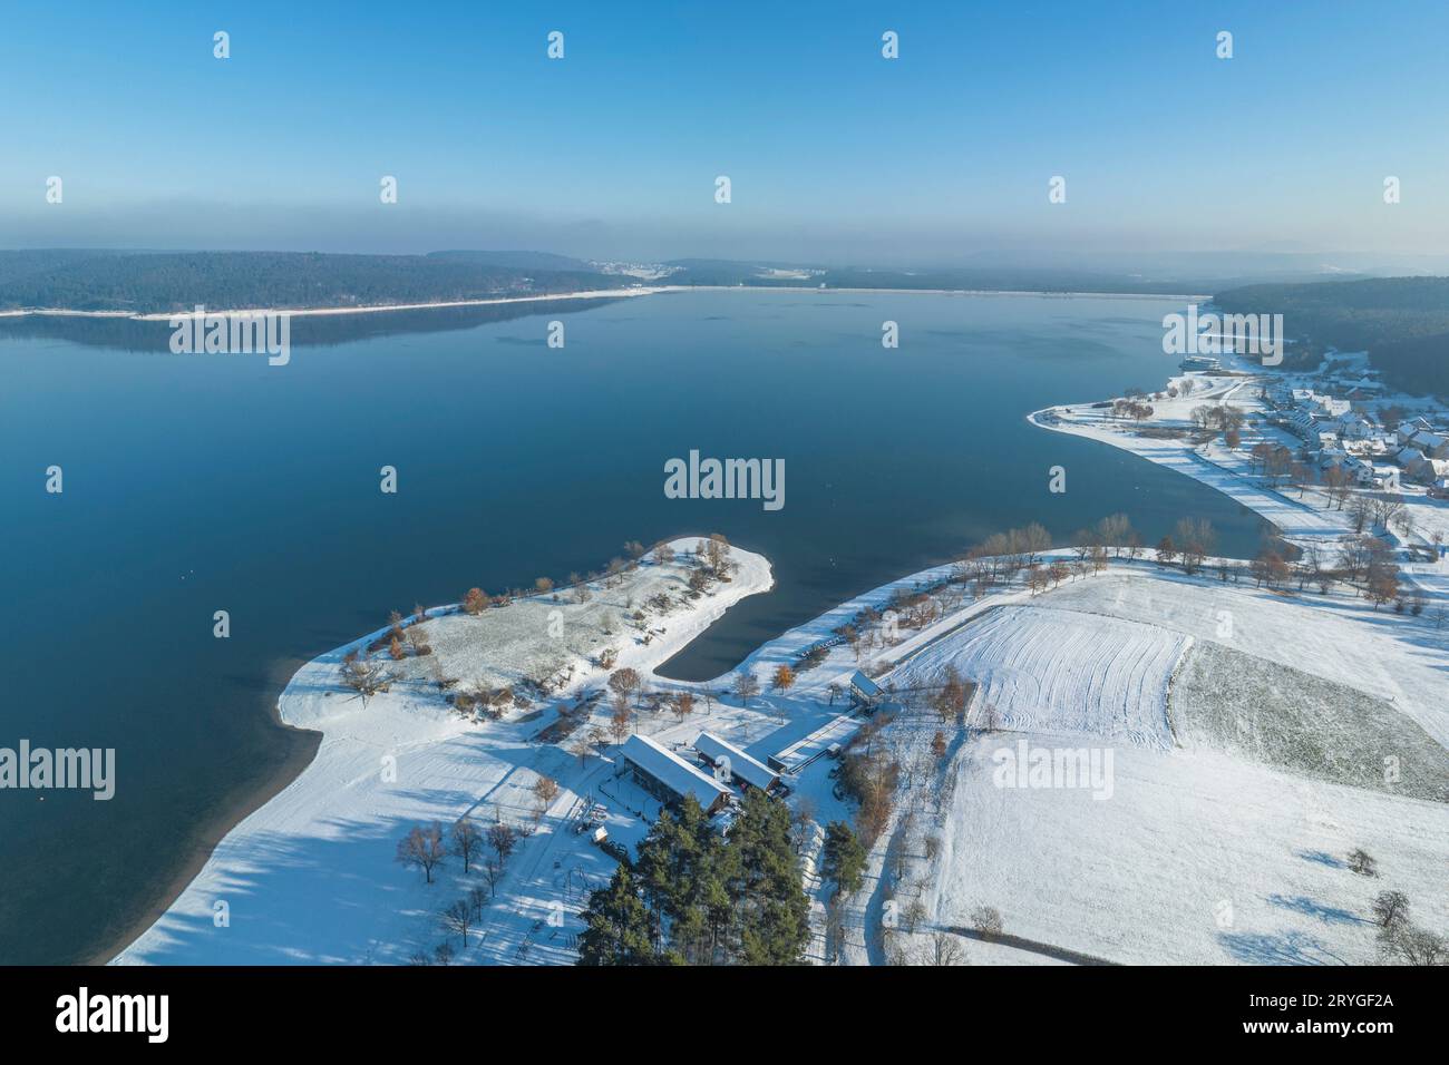
[{"label": "smooth white snowy field below the striped and greenish field strips", "polygon": [[[991,743],[958,784],[922,874],[932,922],[993,906],[1009,933],[1129,964],[1368,964],[1369,904],[1401,890],[1449,920],[1449,807],[1391,798],[1210,752],[1119,748],[1108,800],[1085,790],[1003,790]],[[1379,877],[1345,866],[1353,848]]]}]

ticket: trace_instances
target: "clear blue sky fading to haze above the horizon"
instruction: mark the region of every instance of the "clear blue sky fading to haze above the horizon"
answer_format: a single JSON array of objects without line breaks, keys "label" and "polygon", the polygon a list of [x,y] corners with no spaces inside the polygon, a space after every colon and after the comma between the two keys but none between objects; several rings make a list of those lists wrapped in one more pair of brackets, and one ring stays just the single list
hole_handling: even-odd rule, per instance
[{"label": "clear blue sky fading to haze above the horizon", "polygon": [[14,6],[0,246],[1443,251],[1446,51],[1443,3]]}]

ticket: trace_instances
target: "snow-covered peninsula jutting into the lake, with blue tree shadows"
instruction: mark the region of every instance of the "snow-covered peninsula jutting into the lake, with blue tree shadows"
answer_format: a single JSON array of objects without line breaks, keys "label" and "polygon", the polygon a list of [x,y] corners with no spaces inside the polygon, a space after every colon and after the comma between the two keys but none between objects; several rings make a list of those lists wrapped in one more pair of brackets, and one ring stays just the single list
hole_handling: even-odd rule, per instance
[{"label": "snow-covered peninsula jutting into the lake, with blue tree shadows", "polygon": [[[468,948],[478,961],[527,955],[533,930],[565,901],[577,909],[613,868],[564,830],[562,817],[611,767],[597,758],[585,767],[559,746],[536,742],[539,729],[556,719],[559,704],[601,685],[606,671],[591,655],[606,645],[617,651],[616,669],[648,677],[733,603],[772,587],[769,562],[736,548],[730,581],[652,616],[648,636],[630,627],[625,619],[651,597],[682,596],[690,572],[682,555],[694,545],[675,540],[680,561],[646,561],[611,588],[596,585],[584,603],[561,593],[478,617],[429,610],[423,632],[435,653],[397,662],[400,680],[365,706],[339,685],[338,669],[348,651],[385,630],[304,665],[278,709],[288,724],[323,733],[316,759],[232,829],[165,914],[114,961],[396,964],[430,953],[440,937],[439,913],[478,884],[477,865],[471,880],[452,864],[435,874],[439,882],[426,884],[416,869],[396,864],[394,852],[414,824],[446,827],[464,814],[484,826],[536,826],[510,859],[483,922],[494,926],[494,937]],[[469,720],[443,703],[438,687],[439,674],[461,681],[458,690],[517,682],[540,664],[572,667],[569,680],[548,703],[503,720]],[[532,788],[542,775],[561,791],[539,811]],[[562,959],[564,945],[551,946]]]}]

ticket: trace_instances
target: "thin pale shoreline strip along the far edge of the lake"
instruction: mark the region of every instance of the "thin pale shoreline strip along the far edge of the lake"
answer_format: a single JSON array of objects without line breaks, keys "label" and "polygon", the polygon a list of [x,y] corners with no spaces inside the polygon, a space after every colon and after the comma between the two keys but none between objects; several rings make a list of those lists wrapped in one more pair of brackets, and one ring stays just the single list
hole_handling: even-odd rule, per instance
[{"label": "thin pale shoreline strip along the far edge of the lake", "polygon": [[[514,303],[554,303],[558,300],[625,300],[635,296],[656,296],[661,293],[817,293],[820,296],[1010,296],[1037,298],[1116,298],[1116,300],[1208,300],[1210,296],[1193,293],[1094,293],[1094,291],[1033,291],[1026,288],[820,288],[810,285],[642,285],[638,288],[591,288],[578,293],[554,293],[546,296],[500,296],[488,300],[452,300],[439,303],[385,303],[367,307],[232,307],[207,310],[207,314],[223,317],[249,317],[254,314],[288,314],[291,317],[327,317],[335,314],[385,314],[397,310],[445,310],[458,307],[496,307]],[[123,319],[129,322],[170,322],[177,317],[194,317],[194,310],[146,312],[138,314],[129,310],[72,310],[68,307],[20,307],[0,310],[4,317],[94,317]]]}]

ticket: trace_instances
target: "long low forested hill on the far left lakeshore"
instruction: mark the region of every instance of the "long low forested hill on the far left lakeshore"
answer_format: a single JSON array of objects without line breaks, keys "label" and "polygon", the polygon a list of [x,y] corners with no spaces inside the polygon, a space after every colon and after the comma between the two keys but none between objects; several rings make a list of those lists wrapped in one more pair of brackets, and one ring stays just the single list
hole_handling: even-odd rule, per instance
[{"label": "long low forested hill on the far left lakeshore", "polygon": [[0,252],[0,309],[365,307],[545,296],[626,281],[580,267],[540,268],[481,254],[9,251]]}]

